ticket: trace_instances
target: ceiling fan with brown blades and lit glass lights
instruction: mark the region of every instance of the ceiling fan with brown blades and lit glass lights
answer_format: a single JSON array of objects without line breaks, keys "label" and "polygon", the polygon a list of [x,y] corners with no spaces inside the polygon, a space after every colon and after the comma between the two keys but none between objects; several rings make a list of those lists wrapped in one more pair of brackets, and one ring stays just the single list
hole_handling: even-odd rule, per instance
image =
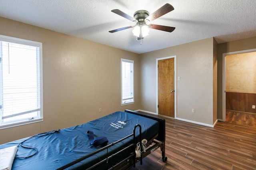
[{"label": "ceiling fan with brown blades and lit glass lights", "polygon": [[[159,18],[160,16],[163,16],[164,14],[167,14],[168,12],[171,12],[172,10],[174,10],[173,6],[170,4],[165,4],[164,6],[162,6],[161,8],[159,8],[158,10],[156,10],[155,12],[153,12],[152,14],[149,15],[149,12],[146,10],[138,10],[134,13],[134,17],[131,17],[127,14],[125,14],[124,12],[116,9],[116,10],[112,10],[111,12],[114,12],[115,14],[118,14],[130,21],[134,21],[136,22],[136,25],[134,26],[128,26],[128,27],[122,27],[122,28],[118,28],[118,29],[114,29],[112,31],[109,31],[110,33],[114,33],[117,31],[122,31],[124,29],[128,29],[128,28],[132,28],[133,29],[133,34],[137,37],[137,41],[138,39],[143,39],[146,35],[148,35],[149,29],[158,29],[161,31],[167,31],[167,32],[172,32],[174,31],[175,27],[169,27],[169,26],[164,26],[164,25],[156,25],[156,24],[148,24],[148,22],[156,20],[157,18]],[[140,42],[141,44],[141,42]]]}]

